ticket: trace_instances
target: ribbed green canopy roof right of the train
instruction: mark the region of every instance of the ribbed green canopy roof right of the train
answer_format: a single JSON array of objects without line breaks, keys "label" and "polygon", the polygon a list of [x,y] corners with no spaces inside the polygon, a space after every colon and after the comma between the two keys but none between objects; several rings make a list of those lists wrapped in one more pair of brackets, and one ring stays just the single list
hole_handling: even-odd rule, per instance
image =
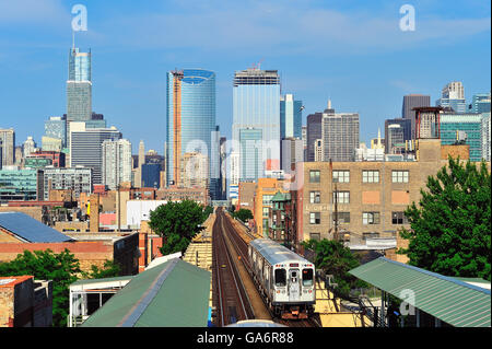
[{"label": "ribbed green canopy roof right of the train", "polygon": [[491,326],[490,290],[384,257],[349,272],[449,325]]}]

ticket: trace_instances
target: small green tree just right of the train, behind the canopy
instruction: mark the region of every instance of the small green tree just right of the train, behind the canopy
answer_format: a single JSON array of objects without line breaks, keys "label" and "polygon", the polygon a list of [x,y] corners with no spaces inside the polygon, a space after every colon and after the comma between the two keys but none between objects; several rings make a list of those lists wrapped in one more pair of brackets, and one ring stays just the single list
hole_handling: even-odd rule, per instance
[{"label": "small green tree just right of the train, behind the canopy", "polygon": [[348,298],[353,288],[367,287],[364,281],[348,272],[356,268],[360,263],[350,248],[343,246],[341,242],[327,239],[309,240],[303,242],[302,245],[315,252],[314,263],[317,269],[323,269],[327,275],[333,276],[333,281],[338,283],[337,293],[340,296]]}]

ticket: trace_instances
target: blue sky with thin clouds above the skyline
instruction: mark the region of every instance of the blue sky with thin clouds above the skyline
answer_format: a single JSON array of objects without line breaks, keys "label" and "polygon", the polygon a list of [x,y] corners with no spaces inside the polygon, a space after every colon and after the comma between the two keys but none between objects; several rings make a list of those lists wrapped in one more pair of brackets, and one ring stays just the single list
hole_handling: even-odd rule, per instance
[{"label": "blue sky with thin clouds above the skyline", "polygon": [[[430,94],[462,81],[467,101],[491,90],[491,7],[449,1],[101,1],[0,0],[0,127],[16,142],[40,146],[44,121],[66,113],[71,9],[87,9],[77,46],[92,49],[93,109],[138,151],[163,152],[165,73],[203,68],[216,73],[216,120],[232,127],[235,70],[261,62],[277,69],[282,92],[305,105],[358,112],[361,141],[386,118],[400,117],[402,96]],[[399,27],[399,9],[415,9],[415,31]]]}]

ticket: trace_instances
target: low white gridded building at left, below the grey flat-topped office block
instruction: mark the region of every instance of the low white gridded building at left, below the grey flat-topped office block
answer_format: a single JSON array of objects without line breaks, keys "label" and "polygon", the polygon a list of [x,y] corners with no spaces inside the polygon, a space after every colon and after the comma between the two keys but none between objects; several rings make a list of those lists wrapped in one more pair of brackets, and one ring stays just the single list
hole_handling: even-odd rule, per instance
[{"label": "low white gridded building at left, below the grey flat-topped office block", "polygon": [[44,170],[44,200],[49,199],[50,190],[70,190],[73,198],[79,198],[81,193],[93,191],[93,170],[89,167]]}]

